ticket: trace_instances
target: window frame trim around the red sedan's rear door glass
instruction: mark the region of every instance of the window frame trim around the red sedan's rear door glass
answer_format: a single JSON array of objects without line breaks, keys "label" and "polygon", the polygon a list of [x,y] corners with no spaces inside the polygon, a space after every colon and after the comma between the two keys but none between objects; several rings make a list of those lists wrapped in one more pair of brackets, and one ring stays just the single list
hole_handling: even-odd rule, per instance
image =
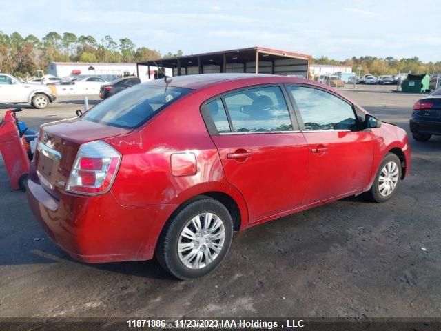
[{"label": "window frame trim around the red sedan's rear door glass", "polygon": [[[258,132],[233,132],[233,124],[232,119],[229,115],[229,110],[227,108],[227,104],[225,103],[225,97],[228,97],[229,94],[238,93],[245,90],[256,90],[257,88],[274,88],[278,87],[280,88],[280,92],[282,92],[283,98],[285,99],[285,103],[287,105],[288,113],[289,113],[289,119],[291,120],[291,126],[293,130],[289,131],[258,131]],[[291,99],[289,98],[289,93],[285,89],[285,86],[283,83],[263,83],[263,84],[256,84],[252,86],[245,86],[241,88],[235,88],[233,90],[228,90],[226,92],[222,92],[220,94],[216,94],[214,97],[211,97],[207,100],[205,100],[200,107],[201,115],[203,117],[203,121],[205,122],[205,126],[207,127],[207,130],[210,134],[210,136],[220,136],[220,135],[236,135],[236,134],[283,134],[283,133],[296,133],[300,132],[300,126],[297,121],[297,116],[294,110],[294,107],[291,103]],[[217,99],[220,99],[223,103],[223,107],[225,108],[225,114],[227,114],[227,120],[229,124],[229,130],[230,132],[222,132],[219,133],[216,125],[214,124],[214,121],[212,119],[212,116],[209,114],[209,110],[207,108],[207,104],[215,101]]]}]

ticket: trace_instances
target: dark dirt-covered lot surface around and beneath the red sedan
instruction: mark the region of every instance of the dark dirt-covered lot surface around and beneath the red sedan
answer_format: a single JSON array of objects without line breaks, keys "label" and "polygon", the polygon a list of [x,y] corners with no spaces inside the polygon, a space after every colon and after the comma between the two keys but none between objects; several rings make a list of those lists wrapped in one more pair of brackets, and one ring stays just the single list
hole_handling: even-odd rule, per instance
[{"label": "dark dirt-covered lot surface around and beneath the red sedan", "polygon": [[[345,94],[408,130],[420,94],[390,88]],[[81,102],[20,117],[37,128]],[[441,137],[411,148],[412,173],[391,201],[344,199],[236,233],[223,264],[194,281],[155,261],[70,259],[10,191],[0,160],[0,317],[441,317]]]}]

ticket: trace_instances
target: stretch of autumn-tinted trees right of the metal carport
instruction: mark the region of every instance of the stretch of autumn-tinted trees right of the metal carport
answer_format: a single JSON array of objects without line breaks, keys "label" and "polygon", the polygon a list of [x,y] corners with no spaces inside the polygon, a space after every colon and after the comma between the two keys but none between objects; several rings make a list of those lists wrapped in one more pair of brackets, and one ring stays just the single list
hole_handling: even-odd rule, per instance
[{"label": "stretch of autumn-tinted trees right of the metal carport", "polygon": [[[337,61],[328,59],[327,57],[319,57],[312,59],[311,63],[331,64],[334,66],[351,66],[352,72],[360,72],[363,74],[373,74],[379,76],[381,74],[398,74],[399,72],[413,74],[436,74],[441,72],[441,61],[423,63],[418,57],[396,59],[394,57],[352,57],[345,61]],[[360,68],[360,70],[358,70]]]}]

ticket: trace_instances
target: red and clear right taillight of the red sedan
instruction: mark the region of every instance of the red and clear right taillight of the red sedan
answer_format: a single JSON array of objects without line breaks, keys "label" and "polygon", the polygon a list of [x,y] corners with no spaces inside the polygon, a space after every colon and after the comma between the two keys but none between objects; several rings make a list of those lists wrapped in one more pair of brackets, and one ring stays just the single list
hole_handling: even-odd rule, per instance
[{"label": "red and clear right taillight of the red sedan", "polygon": [[81,145],[70,172],[66,190],[80,194],[101,194],[110,190],[118,172],[121,154],[104,141]]}]

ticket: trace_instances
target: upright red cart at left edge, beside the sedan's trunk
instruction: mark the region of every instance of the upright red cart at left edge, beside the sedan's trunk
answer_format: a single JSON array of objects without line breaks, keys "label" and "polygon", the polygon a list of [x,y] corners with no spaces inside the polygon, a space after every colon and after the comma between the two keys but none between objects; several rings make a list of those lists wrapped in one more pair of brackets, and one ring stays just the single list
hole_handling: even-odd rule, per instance
[{"label": "upright red cart at left edge, beside the sedan's trunk", "polygon": [[7,110],[0,123],[0,152],[12,188],[25,190],[30,163],[17,127],[16,112],[21,112],[21,109]]}]

